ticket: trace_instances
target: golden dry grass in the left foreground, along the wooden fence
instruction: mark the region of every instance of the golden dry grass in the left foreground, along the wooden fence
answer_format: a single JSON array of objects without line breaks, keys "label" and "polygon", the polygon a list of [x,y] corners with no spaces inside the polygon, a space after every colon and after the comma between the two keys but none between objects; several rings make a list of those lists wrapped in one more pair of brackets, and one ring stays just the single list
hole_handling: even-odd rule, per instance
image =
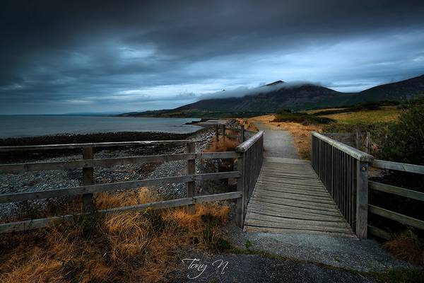
[{"label": "golden dry grass in the left foreground, along the wooden fence", "polygon": [[[105,209],[155,200],[146,188],[98,194]],[[185,246],[225,246],[219,227],[225,204],[107,216],[78,217],[47,229],[0,236],[1,282],[158,282],[179,262]]]}]

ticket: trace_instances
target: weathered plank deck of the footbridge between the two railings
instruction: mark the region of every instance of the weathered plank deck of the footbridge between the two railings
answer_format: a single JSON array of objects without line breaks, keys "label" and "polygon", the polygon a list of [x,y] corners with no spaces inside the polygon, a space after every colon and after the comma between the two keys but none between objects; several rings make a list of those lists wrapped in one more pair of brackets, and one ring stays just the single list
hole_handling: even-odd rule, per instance
[{"label": "weathered plank deck of the footbridge between the two railings", "polygon": [[355,237],[308,161],[265,158],[245,231]]}]

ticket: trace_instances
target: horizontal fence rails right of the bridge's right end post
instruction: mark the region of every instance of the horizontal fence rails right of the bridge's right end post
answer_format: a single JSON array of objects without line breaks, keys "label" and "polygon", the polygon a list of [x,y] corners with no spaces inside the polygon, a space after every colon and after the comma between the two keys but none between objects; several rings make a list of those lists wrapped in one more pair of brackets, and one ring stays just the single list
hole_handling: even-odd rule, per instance
[{"label": "horizontal fence rails right of the bridge's right end post", "polygon": [[[389,169],[393,171],[404,171],[409,173],[424,174],[424,166],[418,166],[418,165],[413,165],[408,163],[399,163],[399,162],[391,162],[391,161],[376,159],[375,161],[372,162],[372,166],[375,168]],[[407,197],[413,200],[424,202],[423,192],[418,192],[416,190],[408,190],[408,189],[404,189],[403,187],[396,187],[393,185],[387,185],[387,184],[377,183],[373,181],[368,182],[368,185],[370,187],[370,190],[375,190],[379,192],[387,192],[392,195],[399,195],[401,197]],[[373,204],[368,204],[368,211],[372,214],[377,214],[387,219],[398,221],[401,224],[406,224],[408,226],[412,226],[417,229],[424,230],[423,220],[415,219],[411,216],[406,216],[404,214],[393,212],[389,209],[384,209],[382,207],[377,207]],[[370,231],[370,233],[374,234],[375,236],[379,236],[385,239],[391,238],[390,233],[382,229],[379,229],[375,226],[368,225],[368,230]]]}]

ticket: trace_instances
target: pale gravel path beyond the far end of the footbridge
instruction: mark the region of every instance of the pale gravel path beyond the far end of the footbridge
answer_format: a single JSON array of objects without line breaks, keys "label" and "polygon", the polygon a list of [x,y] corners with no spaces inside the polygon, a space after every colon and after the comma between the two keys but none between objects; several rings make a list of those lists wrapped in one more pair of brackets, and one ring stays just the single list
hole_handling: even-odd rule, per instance
[{"label": "pale gravel path beyond the far end of the footbridge", "polygon": [[298,149],[293,144],[293,137],[290,132],[271,129],[271,127],[259,122],[254,124],[259,130],[265,131],[265,156],[299,159]]}]

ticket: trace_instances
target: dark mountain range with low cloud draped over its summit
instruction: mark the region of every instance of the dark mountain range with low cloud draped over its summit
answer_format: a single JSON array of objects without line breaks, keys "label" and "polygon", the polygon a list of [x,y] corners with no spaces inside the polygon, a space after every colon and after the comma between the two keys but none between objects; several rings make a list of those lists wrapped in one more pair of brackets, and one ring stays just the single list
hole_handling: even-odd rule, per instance
[{"label": "dark mountain range with low cloud draped over its summit", "polygon": [[[208,98],[172,110],[124,113],[124,116],[189,116],[212,113],[275,112],[281,108],[293,110],[328,108],[379,100],[405,100],[424,93],[424,75],[387,83],[360,93],[341,93],[312,83],[275,81],[249,90],[245,96]],[[222,94],[220,93],[220,96]],[[228,91],[228,96],[235,93]]]}]

